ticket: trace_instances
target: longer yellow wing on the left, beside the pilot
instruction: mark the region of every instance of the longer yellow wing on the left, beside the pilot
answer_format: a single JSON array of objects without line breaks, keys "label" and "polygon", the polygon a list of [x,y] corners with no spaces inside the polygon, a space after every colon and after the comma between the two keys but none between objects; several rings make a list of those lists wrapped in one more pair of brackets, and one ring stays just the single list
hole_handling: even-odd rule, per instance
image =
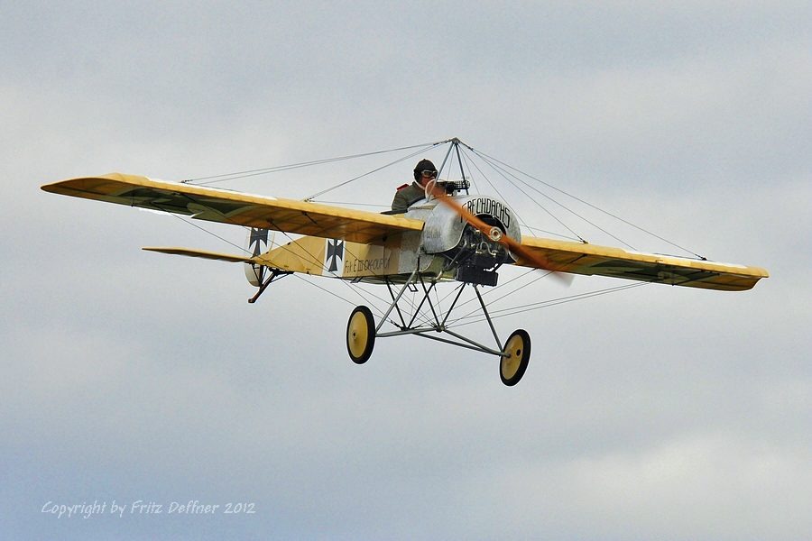
[{"label": "longer yellow wing on the left, beside the pilot", "polygon": [[62,180],[42,189],[65,196],[189,215],[198,220],[354,243],[383,243],[391,234],[423,229],[420,220],[121,173]]}]

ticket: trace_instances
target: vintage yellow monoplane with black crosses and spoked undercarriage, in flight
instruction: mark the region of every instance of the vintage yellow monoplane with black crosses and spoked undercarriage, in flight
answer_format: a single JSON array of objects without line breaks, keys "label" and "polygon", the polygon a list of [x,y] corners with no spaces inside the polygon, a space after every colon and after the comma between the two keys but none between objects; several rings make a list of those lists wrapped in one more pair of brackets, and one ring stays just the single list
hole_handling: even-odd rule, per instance
[{"label": "vintage yellow monoplane with black crosses and spoked undercarriage, in flight", "polygon": [[[459,151],[459,140],[448,142],[449,154]],[[293,272],[381,284],[391,298],[383,316],[376,322],[369,307],[358,306],[349,317],[346,349],[354,362],[366,362],[378,338],[418,335],[498,357],[501,379],[508,386],[518,383],[527,369],[531,338],[518,329],[501,340],[488,313],[481,289],[496,285],[503,265],[541,269],[565,279],[571,274],[595,275],[725,291],[751,289],[768,276],[756,267],[521,234],[520,219],[511,206],[498,198],[471,194],[469,188],[465,174],[460,180],[432,181],[427,197],[405,212],[378,214],[119,173],[42,187],[51,193],[249,229],[245,255],[185,248],[144,250],[243,262],[246,277],[258,288],[249,299],[252,303],[273,281]],[[302,236],[273,246],[269,236],[273,232]],[[458,291],[450,306],[441,309],[431,292],[443,282],[456,282]],[[452,328],[449,316],[464,290],[473,290],[493,346]],[[404,306],[406,291],[417,292],[419,300]],[[394,329],[385,330],[387,323]]]}]

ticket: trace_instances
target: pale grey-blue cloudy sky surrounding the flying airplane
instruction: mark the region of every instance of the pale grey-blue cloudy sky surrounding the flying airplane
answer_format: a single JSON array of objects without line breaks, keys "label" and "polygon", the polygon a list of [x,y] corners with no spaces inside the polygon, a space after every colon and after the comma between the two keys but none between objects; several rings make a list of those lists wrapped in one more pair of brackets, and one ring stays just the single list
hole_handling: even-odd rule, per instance
[{"label": "pale grey-blue cloudy sky surrounding the flying airplane", "polygon": [[[0,58],[8,538],[812,537],[808,2],[5,3]],[[241,229],[39,189],[450,137],[770,279],[500,318],[533,340],[509,389],[418,338],[355,366],[344,284],[248,305],[238,266],[140,250],[235,252]],[[335,197],[386,206],[411,161]],[[374,167],[224,187],[301,198]],[[515,303],[623,285],[595,280]],[[220,508],[168,512],[189,500]]]}]

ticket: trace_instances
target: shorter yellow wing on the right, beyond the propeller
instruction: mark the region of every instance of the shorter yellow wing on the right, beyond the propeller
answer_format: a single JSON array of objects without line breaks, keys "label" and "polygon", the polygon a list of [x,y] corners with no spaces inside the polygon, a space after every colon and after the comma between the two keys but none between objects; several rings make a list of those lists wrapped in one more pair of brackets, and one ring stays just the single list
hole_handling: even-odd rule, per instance
[{"label": "shorter yellow wing on the right, beyond the propeller", "polygon": [[[535,237],[521,237],[521,244],[548,268],[560,272],[609,276],[627,280],[643,280],[689,286],[692,288],[743,291],[757,281],[767,278],[767,271],[733,263],[690,260],[652,253],[627,252],[586,243],[568,243]],[[520,260],[517,264],[535,266]]]}]

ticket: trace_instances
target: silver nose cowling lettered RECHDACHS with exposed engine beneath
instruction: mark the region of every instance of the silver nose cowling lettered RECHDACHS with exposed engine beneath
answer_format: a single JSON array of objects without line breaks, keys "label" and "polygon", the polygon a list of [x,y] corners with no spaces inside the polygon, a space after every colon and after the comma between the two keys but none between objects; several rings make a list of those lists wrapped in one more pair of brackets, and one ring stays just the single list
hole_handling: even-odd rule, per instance
[{"label": "silver nose cowling lettered RECHDACHS with exposed engine beneath", "polygon": [[[510,207],[493,197],[455,197],[457,203],[493,226],[497,235],[521,242],[518,220]],[[423,250],[445,258],[443,271],[466,283],[495,286],[496,270],[515,259],[503,244],[495,242],[445,205],[431,209],[423,229]]]}]

